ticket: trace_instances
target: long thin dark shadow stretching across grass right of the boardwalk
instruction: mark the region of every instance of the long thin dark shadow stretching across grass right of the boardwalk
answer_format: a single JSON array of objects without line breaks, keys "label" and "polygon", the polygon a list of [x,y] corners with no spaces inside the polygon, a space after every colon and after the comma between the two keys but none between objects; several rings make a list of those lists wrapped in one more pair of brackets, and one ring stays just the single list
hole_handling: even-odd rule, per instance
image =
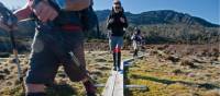
[{"label": "long thin dark shadow stretching across grass right of the boardwalk", "polygon": [[220,88],[220,86],[209,84],[209,83],[190,83],[190,82],[184,82],[184,81],[170,81],[170,80],[157,79],[157,77],[153,77],[153,76],[141,76],[141,75],[135,75],[135,74],[131,75],[131,77],[148,80],[148,81],[158,82],[158,83],[163,83],[163,84],[167,84],[167,85],[180,83],[180,84],[185,84],[185,85],[188,85],[188,86],[196,86],[196,87],[206,88],[206,89]]}]

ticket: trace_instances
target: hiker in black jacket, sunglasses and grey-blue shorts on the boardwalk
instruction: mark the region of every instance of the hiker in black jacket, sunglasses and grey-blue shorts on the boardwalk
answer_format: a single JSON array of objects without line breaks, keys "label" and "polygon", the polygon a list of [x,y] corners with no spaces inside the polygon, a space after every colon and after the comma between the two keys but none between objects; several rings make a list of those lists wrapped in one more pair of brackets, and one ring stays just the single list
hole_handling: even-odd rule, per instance
[{"label": "hiker in black jacket, sunglasses and grey-blue shorts on the boardwalk", "polygon": [[110,51],[113,53],[113,70],[120,71],[121,48],[123,45],[123,35],[128,27],[128,21],[124,15],[123,8],[119,0],[113,1],[112,11],[107,20],[107,28],[109,29]]}]

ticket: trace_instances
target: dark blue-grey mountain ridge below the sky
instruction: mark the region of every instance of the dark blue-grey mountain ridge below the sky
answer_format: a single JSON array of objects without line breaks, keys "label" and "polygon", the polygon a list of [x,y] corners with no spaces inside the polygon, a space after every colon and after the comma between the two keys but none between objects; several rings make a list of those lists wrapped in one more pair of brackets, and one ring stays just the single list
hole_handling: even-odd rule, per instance
[{"label": "dark blue-grey mountain ridge below the sky", "polygon": [[[96,11],[100,22],[105,22],[111,11],[98,10]],[[187,24],[200,25],[205,27],[220,27],[218,24],[208,22],[198,16],[193,16],[188,13],[177,12],[174,10],[156,10],[146,11],[142,13],[125,12],[130,23],[134,25],[152,25],[152,24]]]}]

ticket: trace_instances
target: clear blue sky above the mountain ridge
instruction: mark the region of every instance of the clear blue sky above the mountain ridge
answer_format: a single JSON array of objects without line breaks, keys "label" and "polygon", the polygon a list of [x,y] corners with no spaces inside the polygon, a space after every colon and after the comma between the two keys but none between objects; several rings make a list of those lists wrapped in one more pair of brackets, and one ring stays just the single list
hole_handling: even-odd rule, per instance
[{"label": "clear blue sky above the mountain ridge", "polygon": [[[26,0],[0,0],[7,7],[18,8]],[[111,9],[113,0],[94,0],[95,10]],[[174,10],[198,16],[220,25],[220,0],[121,0],[124,10],[141,13],[155,10]]]}]

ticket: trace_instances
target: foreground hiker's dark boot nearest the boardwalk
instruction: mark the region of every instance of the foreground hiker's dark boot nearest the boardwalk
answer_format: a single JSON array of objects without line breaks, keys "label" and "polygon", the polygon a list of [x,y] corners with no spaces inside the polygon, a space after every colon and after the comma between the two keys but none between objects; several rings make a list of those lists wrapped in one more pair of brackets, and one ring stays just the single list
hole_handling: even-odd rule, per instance
[{"label": "foreground hiker's dark boot nearest the boardwalk", "polygon": [[86,88],[87,96],[96,96],[96,86],[90,81],[85,82],[84,86]]}]

